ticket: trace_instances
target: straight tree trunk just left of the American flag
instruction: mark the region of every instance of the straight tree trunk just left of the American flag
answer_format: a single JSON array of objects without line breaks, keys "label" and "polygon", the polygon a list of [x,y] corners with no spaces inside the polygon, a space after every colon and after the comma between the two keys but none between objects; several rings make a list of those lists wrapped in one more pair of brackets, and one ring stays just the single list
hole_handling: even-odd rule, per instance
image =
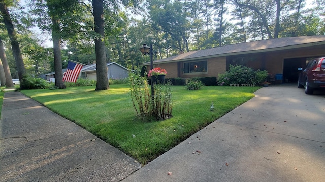
[{"label": "straight tree trunk just left of the American flag", "polygon": [[61,58],[61,38],[59,35],[60,24],[59,20],[52,17],[52,39],[53,39],[53,53],[54,53],[54,72],[55,72],[55,86],[59,89],[65,89],[66,85],[63,82],[62,72],[62,58]]}]

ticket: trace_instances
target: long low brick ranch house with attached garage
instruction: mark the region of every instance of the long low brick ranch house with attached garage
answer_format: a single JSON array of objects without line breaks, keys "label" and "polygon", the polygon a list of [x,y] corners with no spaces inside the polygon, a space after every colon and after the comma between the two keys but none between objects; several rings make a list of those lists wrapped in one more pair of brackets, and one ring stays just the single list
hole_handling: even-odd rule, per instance
[{"label": "long low brick ranch house with attached garage", "polygon": [[[280,82],[296,82],[299,71],[308,58],[325,56],[325,35],[259,40],[226,45],[206,50],[190,51],[153,61],[153,67],[168,72],[166,78],[217,77],[229,65],[244,65],[253,69],[280,74]],[[150,62],[144,63],[150,70]]]}]

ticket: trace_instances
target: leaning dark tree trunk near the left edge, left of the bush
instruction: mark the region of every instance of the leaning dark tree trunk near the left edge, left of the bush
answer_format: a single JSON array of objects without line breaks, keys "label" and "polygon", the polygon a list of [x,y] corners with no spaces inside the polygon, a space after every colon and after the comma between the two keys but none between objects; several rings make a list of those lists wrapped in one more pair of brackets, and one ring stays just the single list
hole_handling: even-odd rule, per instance
[{"label": "leaning dark tree trunk near the left edge, left of the bush", "polygon": [[17,39],[17,35],[15,32],[14,26],[12,24],[11,18],[10,18],[8,7],[5,5],[5,3],[3,1],[0,2],[0,10],[2,13],[2,17],[4,19],[5,27],[8,31],[13,56],[16,61],[16,67],[17,67],[18,77],[19,77],[19,81],[20,81],[20,88],[23,88],[24,84],[23,84],[22,79],[25,77],[25,74],[26,74],[25,65],[22,60],[22,56],[21,56],[21,52],[20,52],[20,48],[19,48],[19,42]]}]

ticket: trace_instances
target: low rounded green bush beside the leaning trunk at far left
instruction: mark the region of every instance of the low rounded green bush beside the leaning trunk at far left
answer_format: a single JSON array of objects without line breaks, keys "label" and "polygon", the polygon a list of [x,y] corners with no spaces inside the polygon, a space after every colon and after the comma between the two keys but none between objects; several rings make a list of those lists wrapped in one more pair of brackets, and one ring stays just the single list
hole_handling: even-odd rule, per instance
[{"label": "low rounded green bush beside the leaning trunk at far left", "polygon": [[45,89],[49,88],[49,83],[42,78],[27,76],[22,79],[21,89]]}]

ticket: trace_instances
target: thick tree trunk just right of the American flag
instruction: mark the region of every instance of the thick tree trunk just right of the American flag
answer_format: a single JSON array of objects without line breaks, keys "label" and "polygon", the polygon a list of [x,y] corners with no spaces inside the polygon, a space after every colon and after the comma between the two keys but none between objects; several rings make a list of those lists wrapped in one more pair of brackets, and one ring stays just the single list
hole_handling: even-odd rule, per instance
[{"label": "thick tree trunk just right of the American flag", "polygon": [[96,91],[107,90],[110,88],[110,86],[108,83],[107,67],[106,67],[103,0],[93,0],[92,8],[93,8],[93,19],[95,22],[95,32],[101,36],[101,38],[95,39],[95,53],[96,53],[96,67],[97,67]]}]

